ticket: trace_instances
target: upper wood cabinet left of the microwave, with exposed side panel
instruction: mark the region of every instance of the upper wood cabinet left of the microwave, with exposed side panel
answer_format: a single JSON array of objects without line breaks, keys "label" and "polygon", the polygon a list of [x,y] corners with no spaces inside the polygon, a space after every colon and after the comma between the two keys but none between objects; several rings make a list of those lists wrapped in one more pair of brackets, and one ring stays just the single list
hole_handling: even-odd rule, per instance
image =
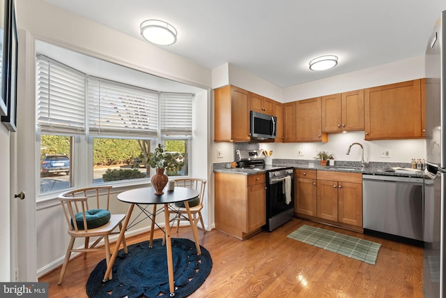
[{"label": "upper wood cabinet left of the microwave, with exposed side panel", "polygon": [[215,142],[249,142],[248,91],[235,86],[214,90]]}]

